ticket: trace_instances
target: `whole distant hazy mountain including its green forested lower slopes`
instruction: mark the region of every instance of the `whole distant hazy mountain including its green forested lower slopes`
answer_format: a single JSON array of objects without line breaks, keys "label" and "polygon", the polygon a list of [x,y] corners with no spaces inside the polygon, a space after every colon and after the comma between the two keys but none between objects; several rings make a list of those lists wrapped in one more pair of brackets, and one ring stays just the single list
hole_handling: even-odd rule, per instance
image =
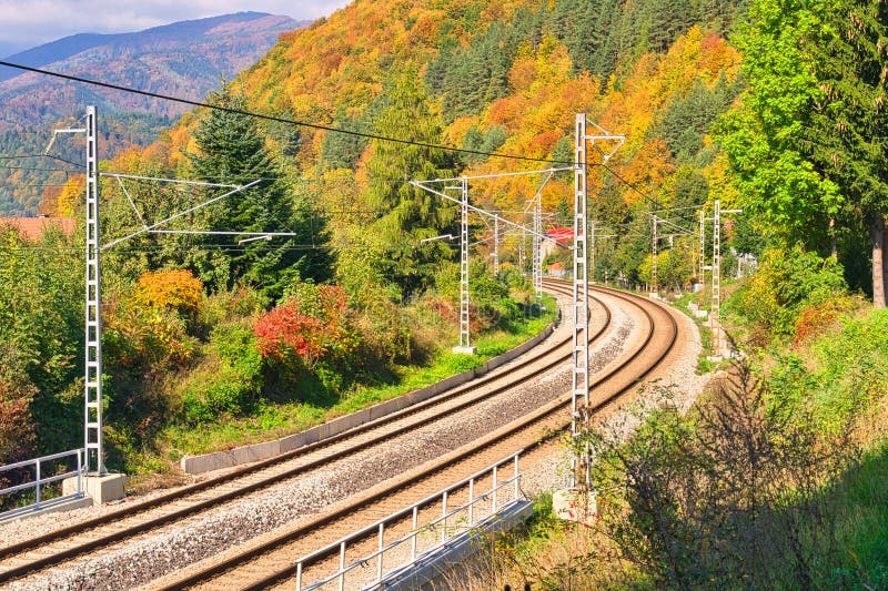
[{"label": "whole distant hazy mountain including its green forested lower slopes", "polygon": [[[304,24],[290,17],[239,12],[135,33],[74,34],[4,61],[201,100],[259,61],[281,33]],[[147,145],[186,109],[178,102],[0,67],[0,154],[42,152],[53,125],[74,121],[87,105],[99,110],[102,157],[133,144]],[[41,187],[64,182],[62,173],[38,170],[46,167],[39,159],[17,161],[17,166],[0,166],[0,215],[36,213],[44,197]]]}]

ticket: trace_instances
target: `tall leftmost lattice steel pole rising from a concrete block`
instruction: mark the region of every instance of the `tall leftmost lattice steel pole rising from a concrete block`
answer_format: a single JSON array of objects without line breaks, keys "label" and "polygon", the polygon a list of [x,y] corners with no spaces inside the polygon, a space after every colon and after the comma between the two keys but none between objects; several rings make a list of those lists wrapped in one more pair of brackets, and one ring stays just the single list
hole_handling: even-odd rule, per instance
[{"label": "tall leftmost lattice steel pole rising from a concrete block", "polygon": [[102,272],[99,235],[99,154],[95,106],[87,108],[87,310],[84,375],[85,470],[107,473],[102,444]]}]

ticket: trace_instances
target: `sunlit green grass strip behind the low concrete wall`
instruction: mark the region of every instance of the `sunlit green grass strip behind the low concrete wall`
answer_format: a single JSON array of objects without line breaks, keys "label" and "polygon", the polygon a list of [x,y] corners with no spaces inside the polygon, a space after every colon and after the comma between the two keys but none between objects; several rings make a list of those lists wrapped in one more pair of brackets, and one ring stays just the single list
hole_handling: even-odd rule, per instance
[{"label": "sunlit green grass strip behind the low concrete wall", "polygon": [[[172,426],[159,437],[160,447],[167,450],[167,459],[176,461],[183,455],[198,455],[236,446],[265,441],[299,432],[337,416],[402,396],[412,390],[430,386],[450,376],[480,367],[488,359],[502,355],[536,336],[557,315],[554,299],[547,298],[543,317],[522,318],[473,339],[477,348],[474,356],[451,351],[441,346],[424,365],[400,366],[385,384],[355,385],[336,396],[330,393],[315,394],[307,399],[285,403],[261,403],[249,417],[234,417],[224,422],[185,428]],[[153,469],[160,468],[158,461]]]}]

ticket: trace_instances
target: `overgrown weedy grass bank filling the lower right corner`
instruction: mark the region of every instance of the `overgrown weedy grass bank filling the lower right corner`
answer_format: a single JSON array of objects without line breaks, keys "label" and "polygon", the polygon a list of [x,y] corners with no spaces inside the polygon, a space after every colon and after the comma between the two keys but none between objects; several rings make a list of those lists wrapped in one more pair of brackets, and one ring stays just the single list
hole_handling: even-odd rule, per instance
[{"label": "overgrown weedy grass bank filling the lower right corner", "polygon": [[628,441],[593,437],[595,527],[544,496],[467,588],[888,589],[888,310],[756,365]]}]

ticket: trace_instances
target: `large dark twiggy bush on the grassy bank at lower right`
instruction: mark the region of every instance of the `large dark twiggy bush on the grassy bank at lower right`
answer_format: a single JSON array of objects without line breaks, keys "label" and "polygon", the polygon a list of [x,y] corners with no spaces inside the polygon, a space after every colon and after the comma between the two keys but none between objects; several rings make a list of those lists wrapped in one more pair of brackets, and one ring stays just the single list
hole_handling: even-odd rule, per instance
[{"label": "large dark twiggy bush on the grassy bank at lower right", "polygon": [[824,495],[854,466],[809,408],[736,364],[687,418],[668,401],[625,444],[593,437],[602,526],[660,588],[811,589],[842,553]]}]

